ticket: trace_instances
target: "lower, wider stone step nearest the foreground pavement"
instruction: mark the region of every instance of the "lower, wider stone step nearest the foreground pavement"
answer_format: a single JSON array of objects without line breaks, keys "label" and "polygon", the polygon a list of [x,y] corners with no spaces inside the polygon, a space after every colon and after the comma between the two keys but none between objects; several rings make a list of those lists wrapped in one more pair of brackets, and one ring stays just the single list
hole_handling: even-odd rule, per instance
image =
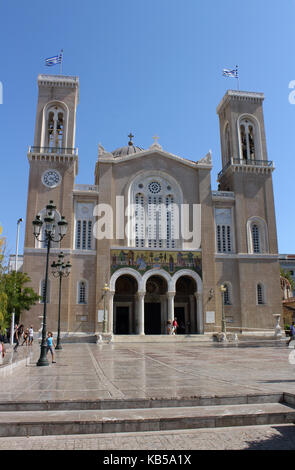
[{"label": "lower, wider stone step nearest the foreground pavement", "polygon": [[253,426],[295,422],[284,403],[116,410],[1,411],[0,436],[44,436]]}]

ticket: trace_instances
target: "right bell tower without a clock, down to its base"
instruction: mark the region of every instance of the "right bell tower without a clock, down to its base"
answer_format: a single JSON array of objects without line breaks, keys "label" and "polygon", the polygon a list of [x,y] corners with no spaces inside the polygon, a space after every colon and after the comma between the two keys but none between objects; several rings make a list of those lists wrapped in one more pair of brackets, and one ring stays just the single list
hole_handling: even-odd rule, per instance
[{"label": "right bell tower without a clock, down to its base", "polygon": [[263,93],[228,90],[217,107],[222,157],[219,193],[233,199],[235,250],[226,262],[235,270],[230,280],[239,292],[239,325],[262,329],[271,328],[273,313],[281,311],[274,165],[267,156],[263,101]]}]

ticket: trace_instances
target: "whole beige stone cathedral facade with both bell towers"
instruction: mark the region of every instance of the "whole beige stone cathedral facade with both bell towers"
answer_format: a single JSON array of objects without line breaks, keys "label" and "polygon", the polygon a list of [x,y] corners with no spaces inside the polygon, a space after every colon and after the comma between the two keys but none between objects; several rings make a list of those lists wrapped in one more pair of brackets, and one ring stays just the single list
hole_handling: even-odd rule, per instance
[{"label": "whole beige stone cathedral facade with both bell towers", "polygon": [[[281,313],[280,272],[262,93],[227,91],[217,107],[222,170],[211,188],[209,152],[198,161],[167,152],[154,138],[114,151],[98,147],[94,184],[75,184],[77,77],[39,75],[30,165],[23,271],[40,303],[22,322],[56,331],[58,281],[32,221],[53,201],[67,234],[53,243],[72,270],[63,281],[62,332],[160,335],[268,330]],[[45,224],[44,224],[45,225]],[[50,273],[50,270],[49,270]],[[224,291],[221,291],[224,286]],[[237,329],[237,330],[235,330]]]}]

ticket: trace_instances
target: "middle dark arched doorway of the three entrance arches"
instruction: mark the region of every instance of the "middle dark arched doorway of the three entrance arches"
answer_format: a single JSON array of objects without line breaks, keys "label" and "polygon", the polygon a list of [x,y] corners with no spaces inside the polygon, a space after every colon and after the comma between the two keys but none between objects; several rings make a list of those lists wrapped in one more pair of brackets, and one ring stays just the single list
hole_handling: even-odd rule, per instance
[{"label": "middle dark arched doorway of the three entrance arches", "polygon": [[146,335],[160,335],[165,331],[167,290],[167,281],[161,276],[151,276],[146,281],[144,303],[144,333]]}]

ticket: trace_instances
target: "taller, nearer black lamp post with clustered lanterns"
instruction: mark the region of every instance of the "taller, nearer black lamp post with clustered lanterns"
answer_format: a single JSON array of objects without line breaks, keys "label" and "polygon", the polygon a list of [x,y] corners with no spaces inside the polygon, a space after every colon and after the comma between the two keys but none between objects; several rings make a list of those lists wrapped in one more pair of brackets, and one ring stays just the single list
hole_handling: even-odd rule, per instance
[{"label": "taller, nearer black lamp post with clustered lanterns", "polygon": [[[49,201],[46,206],[46,214],[43,220],[40,215],[36,215],[33,220],[34,237],[40,242],[45,242],[47,246],[46,254],[46,270],[45,270],[45,289],[44,289],[44,308],[43,308],[43,327],[42,327],[42,340],[41,340],[41,351],[40,358],[37,362],[37,366],[48,366],[49,363],[46,357],[46,307],[47,307],[47,284],[48,284],[48,264],[49,264],[49,253],[52,242],[60,242],[65,234],[67,233],[67,221],[62,216],[61,220],[57,222],[56,206],[53,201]],[[44,226],[44,233],[41,233],[41,229]]]}]

